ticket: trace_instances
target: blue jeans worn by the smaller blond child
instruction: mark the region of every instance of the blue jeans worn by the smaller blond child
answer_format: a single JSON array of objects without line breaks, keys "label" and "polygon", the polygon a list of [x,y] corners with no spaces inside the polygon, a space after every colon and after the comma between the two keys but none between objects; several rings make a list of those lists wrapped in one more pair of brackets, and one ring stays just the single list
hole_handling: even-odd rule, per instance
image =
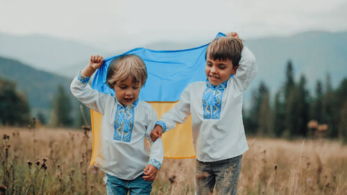
[{"label": "blue jeans worn by the smaller blond child", "polygon": [[144,174],[133,180],[122,180],[106,173],[105,183],[108,195],[149,195],[152,190],[152,182],[142,178]]}]

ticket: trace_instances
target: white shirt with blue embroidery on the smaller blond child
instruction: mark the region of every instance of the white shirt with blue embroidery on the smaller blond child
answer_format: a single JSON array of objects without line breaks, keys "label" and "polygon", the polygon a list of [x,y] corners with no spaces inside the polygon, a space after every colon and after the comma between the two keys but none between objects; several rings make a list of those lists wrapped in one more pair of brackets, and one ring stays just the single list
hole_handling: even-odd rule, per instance
[{"label": "white shirt with blue embroidery on the smaller blond child", "polygon": [[[78,74],[70,88],[79,101],[103,115],[96,167],[124,180],[137,178],[147,164],[160,169],[164,156],[162,140],[153,143],[149,137],[158,119],[153,107],[139,100],[124,107],[115,96],[93,90],[88,81],[89,78]],[[151,148],[145,144],[145,138]]]}]

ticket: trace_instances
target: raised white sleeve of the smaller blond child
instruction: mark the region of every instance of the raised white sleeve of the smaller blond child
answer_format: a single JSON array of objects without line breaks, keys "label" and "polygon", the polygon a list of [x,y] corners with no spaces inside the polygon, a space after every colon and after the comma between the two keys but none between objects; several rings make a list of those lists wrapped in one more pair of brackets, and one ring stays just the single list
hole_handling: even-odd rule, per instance
[{"label": "raised white sleeve of the smaller blond child", "polygon": [[108,94],[103,94],[97,90],[93,90],[88,84],[89,80],[90,78],[78,73],[78,76],[76,76],[71,82],[71,93],[76,96],[78,101],[81,101],[81,103],[86,105],[88,108],[100,112],[103,115]]}]

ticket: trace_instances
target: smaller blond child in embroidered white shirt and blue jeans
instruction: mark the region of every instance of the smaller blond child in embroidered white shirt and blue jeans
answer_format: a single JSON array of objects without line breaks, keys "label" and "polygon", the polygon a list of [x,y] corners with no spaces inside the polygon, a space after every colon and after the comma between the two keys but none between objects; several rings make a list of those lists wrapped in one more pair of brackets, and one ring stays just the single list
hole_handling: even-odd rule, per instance
[{"label": "smaller blond child in embroidered white shirt and blue jeans", "polygon": [[[149,103],[139,101],[146,82],[144,61],[134,54],[118,56],[110,62],[106,83],[115,96],[92,90],[90,76],[103,65],[103,57],[92,56],[90,63],[71,83],[71,92],[88,108],[100,112],[101,152],[96,167],[105,171],[107,194],[149,195],[162,164],[161,139],[151,142],[151,130],[158,119]],[[146,149],[149,139],[151,149]],[[148,152],[149,151],[149,152]]]}]

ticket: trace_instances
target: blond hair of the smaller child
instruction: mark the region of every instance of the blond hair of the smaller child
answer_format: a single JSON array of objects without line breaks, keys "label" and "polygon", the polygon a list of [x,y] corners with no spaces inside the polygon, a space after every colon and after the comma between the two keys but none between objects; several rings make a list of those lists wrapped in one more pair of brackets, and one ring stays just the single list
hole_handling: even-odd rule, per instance
[{"label": "blond hair of the smaller child", "polygon": [[139,84],[141,87],[146,83],[146,65],[135,54],[125,54],[113,59],[108,67],[106,83],[113,89],[115,83],[124,81],[129,76],[133,78],[133,83]]}]

